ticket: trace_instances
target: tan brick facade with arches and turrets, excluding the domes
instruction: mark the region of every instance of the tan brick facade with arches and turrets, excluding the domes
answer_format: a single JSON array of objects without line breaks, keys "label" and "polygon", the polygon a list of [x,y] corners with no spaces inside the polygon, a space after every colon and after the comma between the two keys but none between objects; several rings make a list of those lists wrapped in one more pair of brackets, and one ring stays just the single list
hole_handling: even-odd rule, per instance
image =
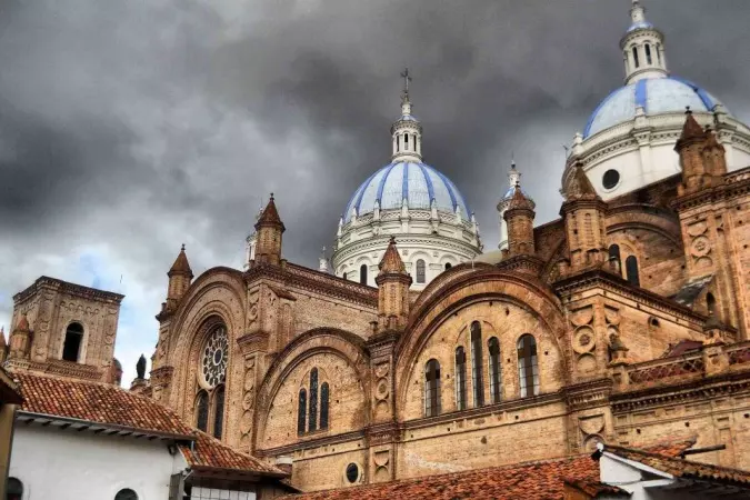
[{"label": "tan brick facade with arches and turrets, excluding the domes", "polygon": [[162,309],[151,380],[134,390],[196,423],[201,356],[223,326],[222,440],[291,461],[303,490],[667,437],[723,444],[694,457],[750,469],[750,169],[722,172],[700,133],[678,146],[684,177],[621,199],[571,176],[562,218],[533,237],[533,207],[516,200],[502,261],[456,266],[418,294],[398,243],[378,288],[284,261],[273,206],[262,259],[211,269]]}]

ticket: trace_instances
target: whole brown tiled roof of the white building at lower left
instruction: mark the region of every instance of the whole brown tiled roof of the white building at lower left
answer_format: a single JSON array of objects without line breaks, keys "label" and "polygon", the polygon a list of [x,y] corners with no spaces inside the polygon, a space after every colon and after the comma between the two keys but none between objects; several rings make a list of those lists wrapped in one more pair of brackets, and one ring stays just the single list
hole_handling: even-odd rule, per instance
[{"label": "whole brown tiled roof of the white building at lower left", "polygon": [[24,398],[22,412],[173,434],[192,468],[286,476],[280,469],[187,426],[177,413],[157,401],[119,387],[32,373],[11,373],[11,378],[19,381]]}]

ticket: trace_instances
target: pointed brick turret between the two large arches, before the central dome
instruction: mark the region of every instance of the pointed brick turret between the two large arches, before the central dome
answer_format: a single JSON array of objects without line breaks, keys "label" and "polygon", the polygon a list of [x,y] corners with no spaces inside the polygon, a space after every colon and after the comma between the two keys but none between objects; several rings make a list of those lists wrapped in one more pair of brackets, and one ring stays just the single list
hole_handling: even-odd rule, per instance
[{"label": "pointed brick turret between the two large arches, before the central dome", "polygon": [[380,330],[400,330],[409,318],[411,277],[396,248],[396,238],[391,237],[378,268],[378,327]]}]

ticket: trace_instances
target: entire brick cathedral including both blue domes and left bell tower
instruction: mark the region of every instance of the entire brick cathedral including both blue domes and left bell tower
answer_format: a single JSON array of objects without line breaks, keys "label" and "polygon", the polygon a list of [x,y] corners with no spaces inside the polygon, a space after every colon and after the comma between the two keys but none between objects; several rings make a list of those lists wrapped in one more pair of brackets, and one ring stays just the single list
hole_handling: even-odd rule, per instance
[{"label": "entire brick cathedral including both blue domes and left bell tower", "polygon": [[[196,277],[183,247],[131,391],[301,491],[666,438],[750,470],[750,128],[670,72],[638,0],[630,17],[624,86],[573,138],[559,219],[534,224],[513,164],[486,250],[422,161],[407,71],[390,161],[342,200],[330,260],[283,258],[273,196],[242,270]],[[18,296],[7,364],[116,380],[111,337],[89,341],[86,321],[49,341],[80,316],[44,322],[52,284]],[[113,334],[121,297],[91,300]]]}]

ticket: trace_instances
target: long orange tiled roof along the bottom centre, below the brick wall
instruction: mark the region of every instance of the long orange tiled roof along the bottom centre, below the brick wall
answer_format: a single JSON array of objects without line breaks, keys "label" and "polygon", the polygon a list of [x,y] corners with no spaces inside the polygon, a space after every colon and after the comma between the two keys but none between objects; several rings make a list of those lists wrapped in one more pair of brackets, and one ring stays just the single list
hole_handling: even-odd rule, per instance
[{"label": "long orange tiled roof along the bottom centre, below the brick wall", "polygon": [[[678,456],[693,442],[663,442],[650,449],[666,453],[664,459],[671,460],[671,457]],[[611,487],[599,483],[599,463],[587,453],[282,498],[286,500],[551,500],[563,498],[566,482],[579,489],[596,489],[599,484],[601,492],[604,492],[604,488],[611,489]],[[614,491],[608,490],[608,492]]]}]

